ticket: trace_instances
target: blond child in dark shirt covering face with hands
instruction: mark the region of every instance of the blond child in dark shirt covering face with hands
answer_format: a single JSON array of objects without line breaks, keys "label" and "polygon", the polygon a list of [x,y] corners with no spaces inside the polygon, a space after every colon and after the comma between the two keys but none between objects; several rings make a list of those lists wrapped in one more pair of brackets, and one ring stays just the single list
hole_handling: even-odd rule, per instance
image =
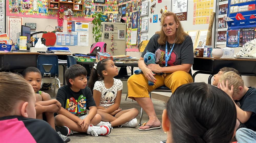
[{"label": "blond child in dark shirt covering face with hands", "polygon": [[237,118],[246,128],[256,131],[256,89],[246,87],[242,77],[226,72],[219,79],[218,88],[225,91],[237,109]]}]

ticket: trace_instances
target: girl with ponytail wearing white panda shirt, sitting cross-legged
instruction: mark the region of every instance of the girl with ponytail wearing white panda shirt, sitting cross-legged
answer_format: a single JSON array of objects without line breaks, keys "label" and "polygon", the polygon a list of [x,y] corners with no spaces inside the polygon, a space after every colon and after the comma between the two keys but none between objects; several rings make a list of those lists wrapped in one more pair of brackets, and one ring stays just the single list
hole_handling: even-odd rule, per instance
[{"label": "girl with ponytail wearing white panda shirt, sitting cross-legged", "polygon": [[137,127],[135,117],[138,116],[138,110],[119,108],[123,83],[120,79],[114,78],[117,75],[118,69],[110,59],[101,60],[92,68],[88,86],[93,89],[98,114],[104,121],[98,125]]}]

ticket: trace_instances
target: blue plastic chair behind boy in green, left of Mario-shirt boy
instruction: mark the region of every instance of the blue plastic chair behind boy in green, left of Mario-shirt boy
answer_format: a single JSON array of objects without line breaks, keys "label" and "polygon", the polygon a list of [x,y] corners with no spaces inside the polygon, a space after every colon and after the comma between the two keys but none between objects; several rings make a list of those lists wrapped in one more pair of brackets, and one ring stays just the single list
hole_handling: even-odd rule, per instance
[{"label": "blue plastic chair behind boy in green, left of Mario-shirt boy", "polygon": [[53,97],[55,97],[56,84],[60,87],[58,56],[39,55],[37,68],[40,70],[44,83],[54,83]]}]

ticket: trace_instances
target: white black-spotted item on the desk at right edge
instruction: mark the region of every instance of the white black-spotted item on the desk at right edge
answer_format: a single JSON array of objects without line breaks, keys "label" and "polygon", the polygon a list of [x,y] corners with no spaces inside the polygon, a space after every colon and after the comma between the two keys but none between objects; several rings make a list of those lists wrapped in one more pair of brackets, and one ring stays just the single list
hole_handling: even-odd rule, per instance
[{"label": "white black-spotted item on the desk at right edge", "polygon": [[236,53],[237,57],[255,57],[256,58],[256,39],[253,39],[243,45],[240,52]]}]

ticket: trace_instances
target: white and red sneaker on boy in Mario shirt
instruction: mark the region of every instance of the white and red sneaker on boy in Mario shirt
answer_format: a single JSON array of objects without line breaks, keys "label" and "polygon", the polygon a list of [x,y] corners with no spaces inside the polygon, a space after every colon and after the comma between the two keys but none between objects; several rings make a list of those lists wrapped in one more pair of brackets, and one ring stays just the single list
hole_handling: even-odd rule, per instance
[{"label": "white and red sneaker on boy in Mario shirt", "polygon": [[111,132],[111,129],[108,125],[102,125],[102,126],[93,126],[92,124],[89,125],[89,128],[87,129],[87,134],[93,135],[98,137],[98,135],[107,136]]}]

